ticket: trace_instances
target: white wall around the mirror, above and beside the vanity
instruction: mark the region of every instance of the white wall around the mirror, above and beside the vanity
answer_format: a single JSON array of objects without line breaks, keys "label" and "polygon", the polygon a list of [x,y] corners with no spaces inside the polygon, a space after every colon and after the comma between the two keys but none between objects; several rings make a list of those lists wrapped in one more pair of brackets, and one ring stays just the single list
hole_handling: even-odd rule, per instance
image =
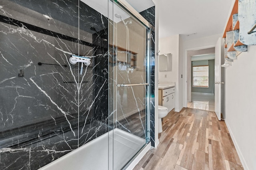
[{"label": "white wall around the mirror, above and beside the vanity", "polygon": [[[172,70],[159,71],[159,82],[175,82],[175,111],[179,112],[179,35],[159,39],[160,54],[172,53]],[[167,75],[165,78],[164,76]],[[181,89],[183,91],[183,89]]]}]

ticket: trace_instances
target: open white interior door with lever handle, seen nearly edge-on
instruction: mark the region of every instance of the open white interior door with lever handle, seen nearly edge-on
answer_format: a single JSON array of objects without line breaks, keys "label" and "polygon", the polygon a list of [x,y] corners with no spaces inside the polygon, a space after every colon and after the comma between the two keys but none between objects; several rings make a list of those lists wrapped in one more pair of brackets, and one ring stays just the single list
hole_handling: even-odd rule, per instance
[{"label": "open white interior door with lever handle, seen nearly edge-on", "polygon": [[221,38],[215,45],[215,113],[221,119]]}]

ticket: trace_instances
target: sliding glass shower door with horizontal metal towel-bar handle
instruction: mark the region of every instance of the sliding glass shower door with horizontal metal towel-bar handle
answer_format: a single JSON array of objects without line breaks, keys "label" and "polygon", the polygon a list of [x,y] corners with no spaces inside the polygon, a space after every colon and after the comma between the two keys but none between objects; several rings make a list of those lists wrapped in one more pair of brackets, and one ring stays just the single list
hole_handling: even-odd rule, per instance
[{"label": "sliding glass shower door with horizontal metal towel-bar handle", "polygon": [[149,142],[150,30],[118,2],[110,13],[109,169],[116,170]]}]

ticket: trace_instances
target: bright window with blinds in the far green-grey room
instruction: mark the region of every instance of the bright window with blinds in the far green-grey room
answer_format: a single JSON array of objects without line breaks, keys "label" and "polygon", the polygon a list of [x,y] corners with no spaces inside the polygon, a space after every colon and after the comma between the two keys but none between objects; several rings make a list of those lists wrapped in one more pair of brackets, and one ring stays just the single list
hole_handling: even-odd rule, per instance
[{"label": "bright window with blinds in the far green-grey room", "polygon": [[193,66],[193,87],[208,87],[209,66]]}]

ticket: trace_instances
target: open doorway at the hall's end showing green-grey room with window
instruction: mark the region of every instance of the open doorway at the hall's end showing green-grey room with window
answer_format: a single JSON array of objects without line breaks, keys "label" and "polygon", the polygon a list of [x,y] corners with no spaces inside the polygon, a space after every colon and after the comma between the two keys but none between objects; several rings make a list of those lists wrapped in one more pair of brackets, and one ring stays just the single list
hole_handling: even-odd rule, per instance
[{"label": "open doorway at the hall's end showing green-grey room with window", "polygon": [[215,47],[187,51],[187,107],[214,111]]}]

